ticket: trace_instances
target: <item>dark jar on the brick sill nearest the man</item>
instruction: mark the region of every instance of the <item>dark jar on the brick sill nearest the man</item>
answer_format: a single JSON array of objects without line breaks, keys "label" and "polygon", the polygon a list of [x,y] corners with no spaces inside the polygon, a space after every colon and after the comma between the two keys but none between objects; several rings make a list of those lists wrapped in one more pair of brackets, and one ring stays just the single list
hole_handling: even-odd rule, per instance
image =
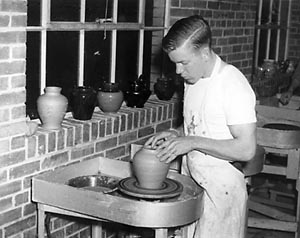
[{"label": "dark jar on the brick sill nearest the man", "polygon": [[160,100],[170,100],[174,92],[175,85],[172,78],[158,78],[154,84],[154,93]]}]

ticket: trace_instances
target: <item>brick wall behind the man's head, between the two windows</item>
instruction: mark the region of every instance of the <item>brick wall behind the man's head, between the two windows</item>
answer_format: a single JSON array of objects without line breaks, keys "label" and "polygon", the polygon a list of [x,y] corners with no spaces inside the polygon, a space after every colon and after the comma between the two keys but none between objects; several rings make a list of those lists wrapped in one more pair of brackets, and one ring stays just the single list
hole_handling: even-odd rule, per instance
[{"label": "brick wall behind the man's head, between the two windows", "polygon": [[247,0],[174,0],[171,24],[185,16],[202,15],[212,28],[215,52],[249,78],[252,71],[255,10],[255,1]]}]

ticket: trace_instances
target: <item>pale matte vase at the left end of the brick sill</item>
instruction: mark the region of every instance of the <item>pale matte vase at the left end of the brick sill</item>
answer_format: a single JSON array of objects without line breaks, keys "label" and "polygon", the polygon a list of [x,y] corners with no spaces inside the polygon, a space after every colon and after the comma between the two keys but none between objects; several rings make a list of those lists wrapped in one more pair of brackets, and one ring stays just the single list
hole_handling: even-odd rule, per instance
[{"label": "pale matte vase at the left end of the brick sill", "polygon": [[44,91],[37,100],[42,127],[47,130],[60,129],[67,111],[68,99],[60,93],[60,87],[46,87]]}]

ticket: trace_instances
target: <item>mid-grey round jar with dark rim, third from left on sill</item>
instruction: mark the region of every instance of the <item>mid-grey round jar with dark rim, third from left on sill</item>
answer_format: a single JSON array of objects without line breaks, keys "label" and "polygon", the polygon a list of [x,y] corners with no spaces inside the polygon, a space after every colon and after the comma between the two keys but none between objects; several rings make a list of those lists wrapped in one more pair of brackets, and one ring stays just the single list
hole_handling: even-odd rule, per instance
[{"label": "mid-grey round jar with dark rim, third from left on sill", "polygon": [[104,83],[97,94],[98,106],[103,112],[117,112],[123,102],[123,92],[116,83]]}]

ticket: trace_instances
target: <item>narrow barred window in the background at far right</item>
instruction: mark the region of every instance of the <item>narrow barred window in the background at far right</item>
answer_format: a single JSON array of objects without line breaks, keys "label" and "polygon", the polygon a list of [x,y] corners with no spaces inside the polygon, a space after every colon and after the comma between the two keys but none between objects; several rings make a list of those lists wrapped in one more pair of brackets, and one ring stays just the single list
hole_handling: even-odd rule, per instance
[{"label": "narrow barred window in the background at far right", "polygon": [[291,0],[259,0],[255,27],[254,67],[264,59],[287,59]]}]

